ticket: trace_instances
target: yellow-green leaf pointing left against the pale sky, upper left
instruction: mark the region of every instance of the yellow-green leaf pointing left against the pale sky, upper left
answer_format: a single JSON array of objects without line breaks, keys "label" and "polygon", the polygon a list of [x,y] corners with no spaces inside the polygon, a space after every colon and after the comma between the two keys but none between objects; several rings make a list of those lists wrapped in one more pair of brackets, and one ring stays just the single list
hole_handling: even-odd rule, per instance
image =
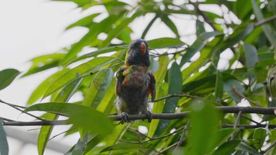
[{"label": "yellow-green leaf pointing left against the pale sky, upper left", "polygon": [[25,77],[43,70],[47,70],[53,67],[58,66],[58,63],[61,59],[64,58],[66,54],[50,54],[50,55],[43,55],[32,59],[33,62],[30,69],[21,77]]}]

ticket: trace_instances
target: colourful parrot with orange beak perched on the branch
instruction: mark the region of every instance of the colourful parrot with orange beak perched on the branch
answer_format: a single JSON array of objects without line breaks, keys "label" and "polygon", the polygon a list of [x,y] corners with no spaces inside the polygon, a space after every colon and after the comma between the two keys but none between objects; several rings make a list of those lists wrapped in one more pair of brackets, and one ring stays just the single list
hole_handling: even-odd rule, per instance
[{"label": "colourful parrot with orange beak perched on the branch", "polygon": [[155,99],[155,78],[148,69],[150,66],[147,41],[133,41],[126,53],[125,64],[116,71],[116,109],[122,115],[120,123],[131,122],[129,115],[145,114],[151,122],[149,95]]}]

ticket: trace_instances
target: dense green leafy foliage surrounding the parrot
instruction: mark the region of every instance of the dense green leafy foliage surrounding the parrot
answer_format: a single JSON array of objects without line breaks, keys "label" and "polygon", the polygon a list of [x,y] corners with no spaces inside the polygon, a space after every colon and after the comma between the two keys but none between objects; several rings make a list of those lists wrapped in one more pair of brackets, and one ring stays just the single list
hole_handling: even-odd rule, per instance
[{"label": "dense green leafy foliage surrounding the parrot", "polygon": [[[239,126],[250,125],[252,119],[253,122],[262,120],[274,124],[274,116],[227,114],[215,108],[237,105],[275,107],[273,101],[269,101],[266,78],[276,52],[276,22],[272,19],[264,22],[276,14],[275,1],[56,1],[75,3],[82,10],[97,6],[106,9],[68,25],[66,30],[84,27],[88,32],[78,42],[64,48],[62,53],[32,59],[33,65],[21,76],[58,68],[33,91],[28,100],[28,106],[31,106],[26,111],[48,112],[42,116],[47,120],[57,120],[59,115],[69,117],[67,123],[74,124],[80,139],[66,154],[275,154],[274,146],[266,148],[275,141],[276,131],[268,127]],[[218,7],[222,13],[202,9],[206,7]],[[107,17],[94,21],[106,13]],[[116,113],[113,75],[124,63],[128,44],[136,39],[130,36],[130,23],[148,14],[154,14],[154,17],[149,23],[143,23],[147,26],[141,38],[147,39],[157,19],[175,36],[147,40],[150,69],[156,79],[156,98],[186,95],[158,100],[153,104],[152,112],[192,111],[190,121],[188,123],[188,118],[154,119],[151,123],[136,120],[129,125],[114,126],[106,117]],[[188,37],[179,31],[184,29],[183,24],[179,27],[173,20],[180,16],[194,21],[196,32],[192,37],[196,39],[192,44],[183,41]],[[107,35],[104,40],[98,38],[102,33]],[[80,55],[84,47],[97,50]],[[167,51],[160,53],[160,49]],[[227,53],[233,57],[225,60],[223,55]],[[199,57],[193,59],[196,55]],[[227,62],[224,68],[221,67],[223,60]],[[18,74],[15,69],[0,71],[0,90],[11,84]],[[77,92],[82,94],[83,100],[70,102]],[[47,96],[51,96],[51,102],[34,104]],[[1,129],[2,119],[0,123]],[[223,128],[223,124],[233,124],[234,128]],[[148,134],[137,131],[139,126],[146,126]],[[53,127],[41,128],[39,154],[43,154]],[[188,131],[182,132],[177,130],[179,128]],[[169,134],[175,130],[175,134]],[[3,137],[0,152],[7,154],[4,130],[0,130],[0,136]]]}]

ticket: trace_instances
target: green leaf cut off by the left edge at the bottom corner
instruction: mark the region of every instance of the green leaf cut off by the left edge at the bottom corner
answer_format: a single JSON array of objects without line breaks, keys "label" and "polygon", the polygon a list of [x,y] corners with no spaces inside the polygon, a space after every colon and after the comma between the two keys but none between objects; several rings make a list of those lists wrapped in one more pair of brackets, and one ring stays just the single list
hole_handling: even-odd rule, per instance
[{"label": "green leaf cut off by the left edge at the bottom corner", "polygon": [[6,137],[6,132],[3,127],[3,119],[0,118],[0,154],[8,155],[9,154],[9,145]]}]

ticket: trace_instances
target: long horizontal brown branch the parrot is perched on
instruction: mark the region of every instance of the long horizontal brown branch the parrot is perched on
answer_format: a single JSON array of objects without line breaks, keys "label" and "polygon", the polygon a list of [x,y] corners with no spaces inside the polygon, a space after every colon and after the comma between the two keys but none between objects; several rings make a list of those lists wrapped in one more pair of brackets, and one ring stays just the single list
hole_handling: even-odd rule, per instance
[{"label": "long horizontal brown branch the parrot is perched on", "polygon": [[[275,115],[274,110],[276,108],[221,106],[221,107],[216,107],[216,109],[220,110],[223,113],[238,114],[241,111],[243,114]],[[169,119],[180,119],[180,118],[188,117],[189,114],[190,114],[189,111],[182,112],[182,113],[170,113],[170,114],[152,114],[152,119],[168,119],[168,120]],[[122,120],[121,115],[108,116],[108,118],[110,118],[114,121]],[[129,120],[139,120],[139,119],[147,119],[147,116],[145,114],[129,115]],[[46,121],[30,121],[30,122],[22,122],[22,121],[7,122],[7,121],[5,121],[3,125],[35,126],[35,125],[66,125],[66,124],[70,124],[70,123],[67,120],[55,120],[55,121],[46,120]],[[237,125],[237,126],[239,126],[239,125]],[[265,126],[262,125],[262,127],[265,127]]]}]

